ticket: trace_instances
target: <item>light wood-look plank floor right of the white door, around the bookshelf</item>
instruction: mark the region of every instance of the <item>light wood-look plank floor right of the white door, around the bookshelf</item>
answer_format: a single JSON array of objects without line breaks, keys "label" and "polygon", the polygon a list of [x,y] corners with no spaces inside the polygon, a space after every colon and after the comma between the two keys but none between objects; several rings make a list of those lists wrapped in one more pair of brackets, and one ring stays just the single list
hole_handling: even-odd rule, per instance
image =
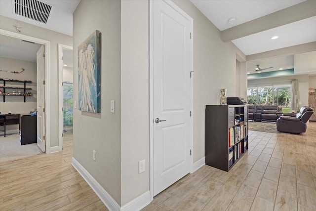
[{"label": "light wood-look plank floor right of the white door, around the bookshelf", "polygon": [[249,131],[229,172],[203,166],[142,211],[316,211],[316,122],[302,135]]}]

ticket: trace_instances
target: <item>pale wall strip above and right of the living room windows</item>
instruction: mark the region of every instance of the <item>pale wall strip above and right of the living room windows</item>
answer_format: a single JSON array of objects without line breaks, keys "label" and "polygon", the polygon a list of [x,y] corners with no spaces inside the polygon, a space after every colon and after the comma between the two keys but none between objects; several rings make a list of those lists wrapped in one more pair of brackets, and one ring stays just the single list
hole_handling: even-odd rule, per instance
[{"label": "pale wall strip above and right of the living room windows", "polygon": [[248,87],[256,87],[257,85],[272,85],[272,84],[284,84],[284,82],[298,80],[300,90],[300,102],[301,106],[308,106],[308,89],[309,89],[309,75],[295,75],[285,77],[275,77],[266,79],[254,79],[248,80]]}]

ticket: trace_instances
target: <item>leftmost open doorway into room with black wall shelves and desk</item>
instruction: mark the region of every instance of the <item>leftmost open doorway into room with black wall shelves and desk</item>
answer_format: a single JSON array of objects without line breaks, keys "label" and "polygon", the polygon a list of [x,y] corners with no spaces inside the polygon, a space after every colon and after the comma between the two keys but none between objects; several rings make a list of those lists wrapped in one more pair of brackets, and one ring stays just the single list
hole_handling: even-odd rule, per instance
[{"label": "leftmost open doorway into room with black wall shelves and desk", "polygon": [[42,153],[37,146],[37,117],[33,116],[39,94],[37,52],[41,47],[44,44],[0,34],[0,112],[7,115],[6,135],[2,130],[0,133],[1,162]]}]

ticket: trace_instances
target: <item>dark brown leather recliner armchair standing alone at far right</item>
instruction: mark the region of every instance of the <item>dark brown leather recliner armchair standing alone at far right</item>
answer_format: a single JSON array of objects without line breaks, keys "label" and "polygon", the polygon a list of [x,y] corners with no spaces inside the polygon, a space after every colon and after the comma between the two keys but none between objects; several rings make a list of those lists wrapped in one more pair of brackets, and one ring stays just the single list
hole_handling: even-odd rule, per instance
[{"label": "dark brown leather recliner armchair standing alone at far right", "polygon": [[306,132],[306,123],[314,113],[314,109],[303,106],[300,112],[290,116],[280,116],[276,120],[276,129],[280,132],[301,133]]}]

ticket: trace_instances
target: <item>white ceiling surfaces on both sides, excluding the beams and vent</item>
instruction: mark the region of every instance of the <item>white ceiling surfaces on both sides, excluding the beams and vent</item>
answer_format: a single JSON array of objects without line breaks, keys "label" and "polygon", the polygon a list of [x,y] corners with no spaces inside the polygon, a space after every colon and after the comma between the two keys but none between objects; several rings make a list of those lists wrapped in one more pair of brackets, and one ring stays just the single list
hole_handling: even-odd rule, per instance
[{"label": "white ceiling surfaces on both sides, excluding the beams and vent", "polygon": [[[30,20],[13,14],[12,0],[0,0],[0,15],[18,20],[23,33],[23,22],[50,29],[59,33],[72,36],[72,14],[80,0],[41,0],[53,5],[51,17],[47,24]],[[240,24],[251,23],[260,17],[274,14],[279,10],[291,8],[305,0],[190,0],[197,8],[221,31],[230,30]],[[304,13],[304,11],[302,11]],[[230,18],[236,18],[233,24],[228,23]],[[62,24],[60,24],[62,23]],[[237,38],[232,42],[245,54],[275,50],[278,48],[298,45],[307,42],[316,42],[316,16],[288,23],[268,30]],[[13,27],[13,26],[12,26]],[[279,36],[271,40],[272,36]],[[2,42],[2,39],[0,39]],[[20,42],[19,42],[20,43]],[[2,47],[2,43],[0,43]],[[27,52],[20,49],[19,52]],[[248,71],[253,71],[256,64],[261,68],[271,67],[266,71],[278,68],[294,68],[294,56],[284,56],[273,59],[257,59],[247,62]]]}]

